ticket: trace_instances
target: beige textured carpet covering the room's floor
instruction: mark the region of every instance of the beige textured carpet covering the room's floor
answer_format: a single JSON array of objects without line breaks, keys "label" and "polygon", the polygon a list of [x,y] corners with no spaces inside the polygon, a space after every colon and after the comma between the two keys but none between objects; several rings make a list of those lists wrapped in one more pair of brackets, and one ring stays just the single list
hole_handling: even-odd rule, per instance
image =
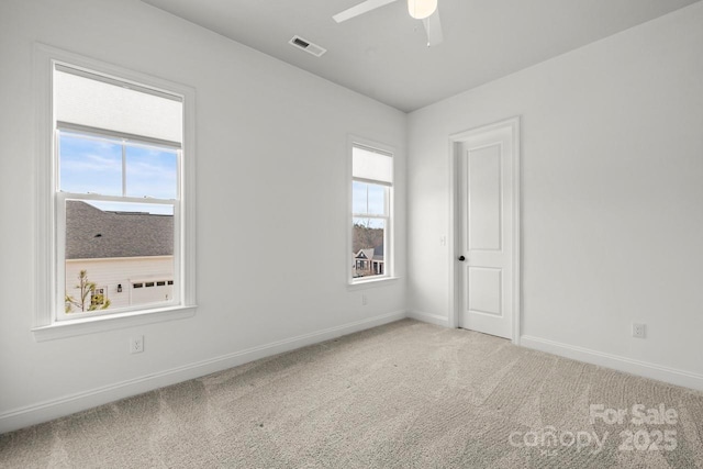
[{"label": "beige textured carpet covering the room's floor", "polygon": [[703,393],[404,320],[2,435],[0,467],[701,468]]}]

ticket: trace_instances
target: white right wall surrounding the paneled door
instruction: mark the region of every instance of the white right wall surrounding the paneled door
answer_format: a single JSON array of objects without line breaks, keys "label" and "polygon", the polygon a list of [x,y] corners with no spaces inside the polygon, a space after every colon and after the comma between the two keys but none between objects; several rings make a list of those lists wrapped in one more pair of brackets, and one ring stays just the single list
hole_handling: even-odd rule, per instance
[{"label": "white right wall surrounding the paneled door", "polygon": [[703,389],[703,3],[410,114],[417,317],[449,319],[449,135],[514,115],[522,343]]}]

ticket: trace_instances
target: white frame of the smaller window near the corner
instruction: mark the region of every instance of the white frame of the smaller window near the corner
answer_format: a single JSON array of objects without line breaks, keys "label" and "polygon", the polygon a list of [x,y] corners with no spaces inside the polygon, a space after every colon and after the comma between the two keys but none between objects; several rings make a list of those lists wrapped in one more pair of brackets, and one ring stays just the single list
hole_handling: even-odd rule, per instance
[{"label": "white frame of the smaller window near the corner", "polygon": [[[369,149],[372,152],[380,153],[382,155],[387,155],[391,158],[391,168],[392,168],[392,181],[390,186],[387,186],[387,214],[386,215],[370,215],[370,214],[356,214],[354,213],[354,193],[353,193],[353,185],[354,181],[357,180],[354,177],[353,172],[353,155],[354,147],[362,147],[365,149]],[[360,217],[371,217],[371,219],[382,219],[386,220],[386,230],[383,233],[383,273],[378,276],[367,276],[354,278],[352,275],[352,266],[349,266],[348,254],[345,256],[346,261],[346,272],[347,272],[347,287],[350,289],[355,288],[365,288],[384,284],[389,281],[397,280],[395,277],[395,230],[394,230],[394,187],[395,187],[395,148],[392,146],[373,142],[368,138],[364,138],[357,135],[349,135],[347,138],[347,180],[348,180],[348,209],[347,209],[347,246],[346,252],[353,253],[354,248],[354,219],[359,217],[357,215],[361,215]],[[358,179],[359,182],[373,183],[372,180],[368,179]]]}]

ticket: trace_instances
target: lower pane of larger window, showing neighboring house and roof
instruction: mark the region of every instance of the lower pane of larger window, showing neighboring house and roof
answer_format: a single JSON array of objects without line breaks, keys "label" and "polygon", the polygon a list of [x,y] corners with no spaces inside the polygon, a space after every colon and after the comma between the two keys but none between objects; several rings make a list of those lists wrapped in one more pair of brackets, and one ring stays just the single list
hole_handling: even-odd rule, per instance
[{"label": "lower pane of larger window, showing neighboring house and roof", "polygon": [[66,312],[174,298],[174,206],[66,201]]}]

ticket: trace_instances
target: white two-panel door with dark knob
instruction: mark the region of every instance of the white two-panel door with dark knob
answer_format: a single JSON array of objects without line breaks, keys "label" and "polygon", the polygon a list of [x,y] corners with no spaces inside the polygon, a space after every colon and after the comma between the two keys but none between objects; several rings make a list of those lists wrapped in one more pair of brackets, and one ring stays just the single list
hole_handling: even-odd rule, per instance
[{"label": "white two-panel door with dark knob", "polygon": [[513,338],[516,122],[469,133],[457,144],[459,326]]}]

